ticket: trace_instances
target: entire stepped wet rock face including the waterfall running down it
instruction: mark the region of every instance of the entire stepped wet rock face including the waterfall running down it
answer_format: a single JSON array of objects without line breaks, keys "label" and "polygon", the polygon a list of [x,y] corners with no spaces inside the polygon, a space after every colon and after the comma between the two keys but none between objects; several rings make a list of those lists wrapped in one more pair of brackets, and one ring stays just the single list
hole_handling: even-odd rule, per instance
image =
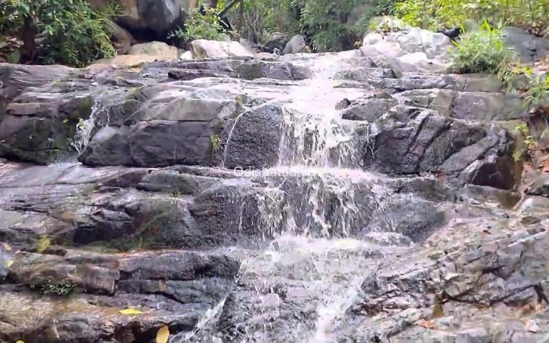
[{"label": "entire stepped wet rock face including the waterfall running down it", "polygon": [[372,51],[0,64],[0,340],[542,342],[517,98]]}]

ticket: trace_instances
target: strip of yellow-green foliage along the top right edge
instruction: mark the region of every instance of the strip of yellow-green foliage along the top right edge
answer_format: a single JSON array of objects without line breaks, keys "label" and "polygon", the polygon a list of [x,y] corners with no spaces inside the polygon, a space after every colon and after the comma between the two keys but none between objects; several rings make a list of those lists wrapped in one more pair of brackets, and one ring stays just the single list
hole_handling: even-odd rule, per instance
[{"label": "strip of yellow-green foliage along the top right edge", "polygon": [[395,14],[410,25],[435,30],[467,19],[533,29],[549,23],[549,0],[402,0]]}]

